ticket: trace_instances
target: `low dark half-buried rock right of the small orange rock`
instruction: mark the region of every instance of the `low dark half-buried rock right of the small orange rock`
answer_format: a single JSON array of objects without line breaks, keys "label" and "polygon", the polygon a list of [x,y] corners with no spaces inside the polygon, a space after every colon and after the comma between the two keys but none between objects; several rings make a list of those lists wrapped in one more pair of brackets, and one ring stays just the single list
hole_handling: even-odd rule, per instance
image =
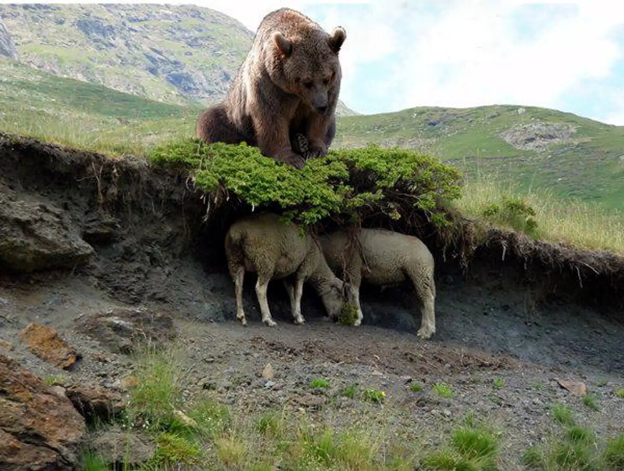
[{"label": "low dark half-buried rock right of the small orange rock", "polygon": [[143,308],[117,308],[80,316],[77,328],[112,352],[130,353],[140,344],[164,344],[175,337],[173,318]]}]

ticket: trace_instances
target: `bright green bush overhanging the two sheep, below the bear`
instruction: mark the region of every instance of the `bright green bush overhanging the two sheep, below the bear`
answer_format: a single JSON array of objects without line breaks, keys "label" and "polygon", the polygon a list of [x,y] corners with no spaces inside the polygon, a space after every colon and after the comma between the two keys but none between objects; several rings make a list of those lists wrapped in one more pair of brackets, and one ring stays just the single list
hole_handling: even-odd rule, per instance
[{"label": "bright green bush overhanging the two sheep, below the bear", "polygon": [[263,157],[245,143],[206,145],[198,139],[158,147],[151,158],[157,165],[188,170],[217,205],[232,197],[252,209],[277,205],[286,218],[304,225],[339,215],[382,213],[399,219],[414,210],[444,225],[444,203],[461,195],[456,168],[398,148],[331,150],[308,160],[303,170]]}]

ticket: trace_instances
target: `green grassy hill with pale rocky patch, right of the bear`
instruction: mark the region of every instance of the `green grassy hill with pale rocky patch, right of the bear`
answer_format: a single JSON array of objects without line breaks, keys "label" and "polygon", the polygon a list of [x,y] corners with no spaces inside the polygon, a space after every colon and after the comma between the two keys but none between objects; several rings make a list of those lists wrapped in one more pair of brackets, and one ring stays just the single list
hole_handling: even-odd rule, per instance
[{"label": "green grassy hill with pale rocky patch, right of the bear", "polygon": [[336,144],[377,142],[432,153],[467,175],[497,174],[524,189],[548,188],[624,210],[624,127],[519,106],[414,108],[344,117]]}]

